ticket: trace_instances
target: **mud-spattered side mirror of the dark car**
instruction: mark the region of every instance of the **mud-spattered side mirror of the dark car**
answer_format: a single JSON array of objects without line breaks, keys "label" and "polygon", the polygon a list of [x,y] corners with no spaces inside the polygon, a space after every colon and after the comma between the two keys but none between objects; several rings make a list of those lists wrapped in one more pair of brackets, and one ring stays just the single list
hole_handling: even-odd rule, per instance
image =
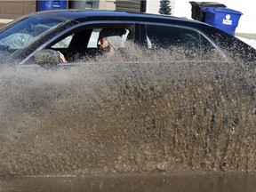
[{"label": "mud-spattered side mirror of the dark car", "polygon": [[51,49],[44,49],[34,54],[36,64],[40,66],[57,66],[60,63],[59,52]]}]

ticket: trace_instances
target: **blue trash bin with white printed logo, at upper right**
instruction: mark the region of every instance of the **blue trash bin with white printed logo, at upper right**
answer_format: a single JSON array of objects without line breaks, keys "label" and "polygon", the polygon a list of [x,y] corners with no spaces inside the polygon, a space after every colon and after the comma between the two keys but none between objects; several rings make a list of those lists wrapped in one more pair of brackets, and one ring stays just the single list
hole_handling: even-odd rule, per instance
[{"label": "blue trash bin with white printed logo, at upper right", "polygon": [[236,27],[243,14],[242,12],[237,12],[224,7],[205,7],[203,8],[203,11],[205,12],[206,23],[235,36]]}]

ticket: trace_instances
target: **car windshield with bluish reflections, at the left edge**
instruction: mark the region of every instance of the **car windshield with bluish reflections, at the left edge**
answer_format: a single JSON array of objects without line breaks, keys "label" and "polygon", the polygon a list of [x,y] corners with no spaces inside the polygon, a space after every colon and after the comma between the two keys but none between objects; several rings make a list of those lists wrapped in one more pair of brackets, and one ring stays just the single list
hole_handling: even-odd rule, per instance
[{"label": "car windshield with bluish reflections, at the left edge", "polygon": [[61,20],[44,17],[28,17],[0,32],[0,50],[15,52],[28,47],[40,36],[60,25]]}]

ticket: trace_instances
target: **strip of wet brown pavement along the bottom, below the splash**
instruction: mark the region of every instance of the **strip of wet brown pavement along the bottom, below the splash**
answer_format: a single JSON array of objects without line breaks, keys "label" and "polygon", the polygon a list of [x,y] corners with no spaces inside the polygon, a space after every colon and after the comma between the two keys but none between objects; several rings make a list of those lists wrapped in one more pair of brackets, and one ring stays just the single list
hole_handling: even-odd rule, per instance
[{"label": "strip of wet brown pavement along the bottom, below the splash", "polygon": [[108,176],[17,177],[0,180],[1,192],[253,192],[256,172],[185,172]]}]

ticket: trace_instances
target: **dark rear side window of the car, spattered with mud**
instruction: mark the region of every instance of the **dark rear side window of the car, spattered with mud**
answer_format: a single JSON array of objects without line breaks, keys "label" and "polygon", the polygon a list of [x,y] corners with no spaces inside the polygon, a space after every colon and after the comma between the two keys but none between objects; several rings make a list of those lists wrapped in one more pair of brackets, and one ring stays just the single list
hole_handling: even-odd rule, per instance
[{"label": "dark rear side window of the car, spattered with mud", "polygon": [[[169,50],[179,52],[180,60],[209,60],[212,52],[222,57],[213,44],[195,30],[165,26],[146,26],[146,44],[152,51]],[[179,57],[175,56],[175,60]],[[212,60],[213,56],[212,56]]]}]

